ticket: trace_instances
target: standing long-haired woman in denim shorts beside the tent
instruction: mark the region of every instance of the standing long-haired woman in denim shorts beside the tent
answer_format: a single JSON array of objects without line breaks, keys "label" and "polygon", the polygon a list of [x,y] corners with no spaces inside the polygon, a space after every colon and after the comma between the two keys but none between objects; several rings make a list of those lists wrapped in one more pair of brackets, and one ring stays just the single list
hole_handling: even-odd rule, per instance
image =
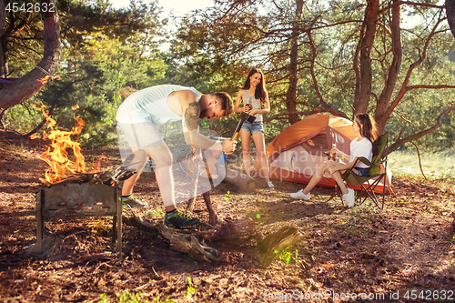
[{"label": "standing long-haired woman in denim shorts beside the tent", "polygon": [[[240,103],[242,103],[241,106]],[[266,188],[275,189],[268,177],[268,160],[266,156],[266,143],[264,141],[264,126],[262,125],[262,114],[267,114],[270,111],[266,81],[264,80],[262,70],[258,68],[251,69],[247,81],[245,81],[243,87],[238,91],[234,111],[236,113],[245,111],[249,115],[256,116],[256,120],[253,124],[245,121],[240,130],[243,151],[243,168],[245,169],[247,176],[250,177],[250,141],[251,135],[253,135],[253,141],[255,142],[260,162],[260,170],[262,172],[259,176],[264,176],[266,178]]]}]

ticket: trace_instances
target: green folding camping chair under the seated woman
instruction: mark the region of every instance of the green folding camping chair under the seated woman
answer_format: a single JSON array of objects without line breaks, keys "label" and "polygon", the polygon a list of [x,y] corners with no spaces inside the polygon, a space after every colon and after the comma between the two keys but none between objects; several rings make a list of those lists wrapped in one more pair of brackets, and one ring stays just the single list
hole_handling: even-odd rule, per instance
[{"label": "green folding camping chair under the seated woman", "polygon": [[[377,147],[376,154],[373,155],[371,158],[371,162],[365,157],[359,157],[358,161],[366,164],[369,166],[369,176],[366,177],[361,177],[354,173],[351,169],[348,169],[341,177],[343,177],[343,180],[347,183],[349,186],[360,186],[360,190],[358,192],[358,195],[356,197],[356,203],[362,204],[365,202],[365,200],[370,197],[371,200],[373,200],[374,204],[379,207],[379,209],[384,208],[384,201],[385,201],[385,193],[386,193],[386,178],[387,178],[387,156],[382,158],[382,154],[384,153],[384,150],[387,147],[387,144],[389,142],[389,133],[385,133],[382,136],[379,136],[378,139],[374,142],[374,144]],[[384,172],[380,171],[380,165],[385,163],[384,165]],[[353,167],[356,167],[357,163],[354,164]],[[372,178],[377,177],[376,180],[371,180]],[[381,180],[384,180],[383,184],[383,191],[382,191],[382,203],[379,203],[379,199],[376,196],[374,189],[375,187],[378,186],[379,182]],[[367,183],[364,184],[364,183]],[[341,191],[339,190],[339,187],[337,186],[337,191],[332,195],[332,197],[329,198],[332,199],[335,197],[337,194],[339,194],[339,197],[341,197],[341,202],[343,203],[343,197],[341,195]],[[328,200],[328,201],[329,201]],[[344,203],[343,203],[344,205]]]}]

